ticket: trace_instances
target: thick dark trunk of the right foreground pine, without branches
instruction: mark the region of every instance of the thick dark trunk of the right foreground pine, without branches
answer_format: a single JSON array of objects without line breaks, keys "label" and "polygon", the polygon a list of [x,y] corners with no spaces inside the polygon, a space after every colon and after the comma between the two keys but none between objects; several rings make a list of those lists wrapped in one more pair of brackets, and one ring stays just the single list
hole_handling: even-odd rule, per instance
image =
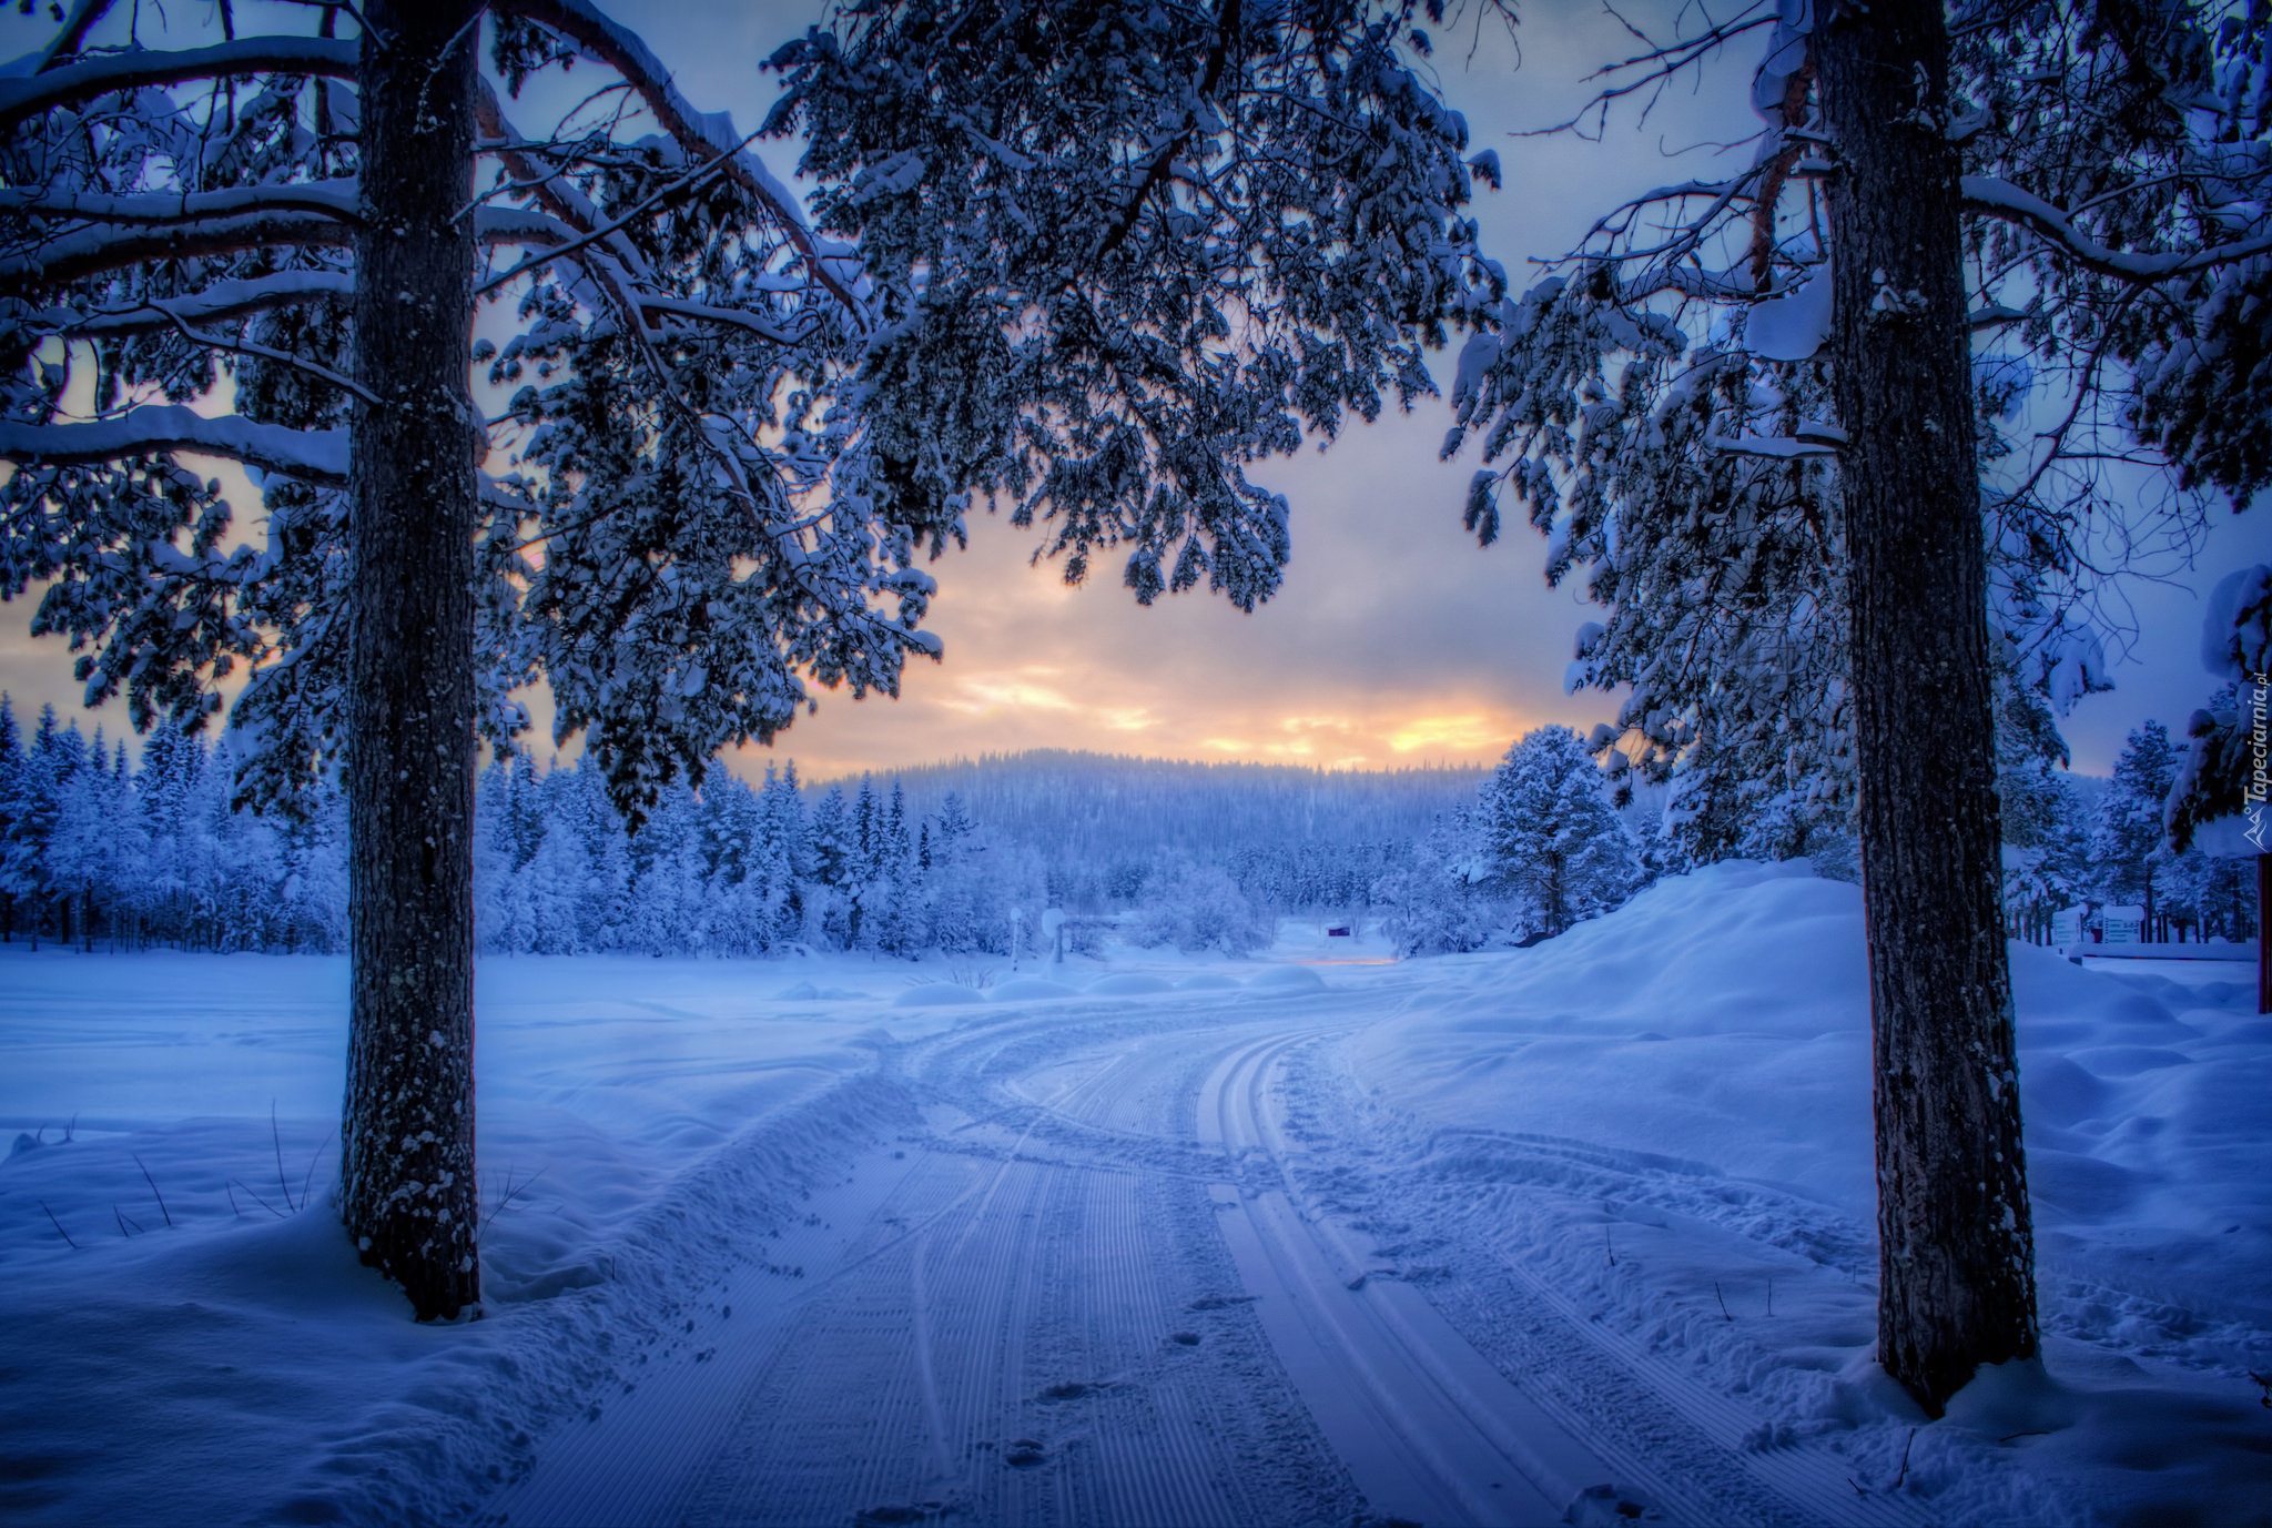
[{"label": "thick dark trunk of the right foreground pine, without branches", "polygon": [[1972,364],[1940,0],[1838,7],[1831,357],[1870,930],[1879,1362],[1927,1407],[2036,1351]]}]

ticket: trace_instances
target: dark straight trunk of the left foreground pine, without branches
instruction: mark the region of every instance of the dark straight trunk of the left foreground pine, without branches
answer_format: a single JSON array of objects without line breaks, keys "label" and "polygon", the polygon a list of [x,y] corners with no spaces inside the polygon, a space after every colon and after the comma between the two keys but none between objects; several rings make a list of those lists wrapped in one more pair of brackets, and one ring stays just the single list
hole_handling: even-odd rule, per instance
[{"label": "dark straight trunk of the left foreground pine, without branches", "polygon": [[473,1178],[473,66],[466,0],[364,9],[341,1210],[420,1319],[482,1292]]}]

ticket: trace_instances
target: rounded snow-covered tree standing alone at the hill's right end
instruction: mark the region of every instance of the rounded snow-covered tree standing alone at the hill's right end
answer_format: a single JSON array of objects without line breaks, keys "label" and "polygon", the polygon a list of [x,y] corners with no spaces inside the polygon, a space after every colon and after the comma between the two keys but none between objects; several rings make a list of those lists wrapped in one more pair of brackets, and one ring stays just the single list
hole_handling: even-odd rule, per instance
[{"label": "rounded snow-covered tree standing alone at the hill's right end", "polygon": [[1534,935],[1595,919],[1640,885],[1640,848],[1570,728],[1536,728],[1506,750],[1475,825],[1493,878]]}]

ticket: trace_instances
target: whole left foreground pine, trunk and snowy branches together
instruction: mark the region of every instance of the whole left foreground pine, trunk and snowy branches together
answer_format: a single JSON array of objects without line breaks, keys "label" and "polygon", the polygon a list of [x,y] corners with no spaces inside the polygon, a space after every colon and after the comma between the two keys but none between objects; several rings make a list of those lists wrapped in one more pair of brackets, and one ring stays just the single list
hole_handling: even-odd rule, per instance
[{"label": "whole left foreground pine, trunk and snowy branches together", "polygon": [[[250,798],[343,755],[341,1210],[420,1317],[479,1296],[477,728],[509,741],[545,675],[638,809],[807,678],[893,691],[936,653],[916,528],[834,398],[872,330],[850,261],[588,0],[486,14],[236,36],[218,7],[148,45],[150,7],[80,0],[0,82],[0,591],[52,580],[39,628],[136,725],[254,664]],[[609,89],[523,130],[509,98],[573,59]],[[266,546],[225,548],[191,450],[264,475]]]}]

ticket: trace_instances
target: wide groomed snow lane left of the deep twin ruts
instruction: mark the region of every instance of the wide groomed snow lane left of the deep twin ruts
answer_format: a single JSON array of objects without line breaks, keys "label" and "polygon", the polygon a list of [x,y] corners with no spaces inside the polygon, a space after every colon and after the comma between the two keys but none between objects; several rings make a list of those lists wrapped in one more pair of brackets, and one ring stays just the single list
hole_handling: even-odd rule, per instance
[{"label": "wide groomed snow lane left of the deep twin ruts", "polygon": [[[1347,1476],[1252,1310],[1220,1298],[1191,1094],[1159,1076],[1220,1048],[1222,1016],[1120,1019],[959,1032],[929,1060],[961,1112],[857,1160],[816,1226],[750,1228],[713,1310],[543,1439],[488,1521],[1347,1521]],[[1006,1096],[1100,1041],[1113,1055],[1036,1089],[1047,1107]]]}]

